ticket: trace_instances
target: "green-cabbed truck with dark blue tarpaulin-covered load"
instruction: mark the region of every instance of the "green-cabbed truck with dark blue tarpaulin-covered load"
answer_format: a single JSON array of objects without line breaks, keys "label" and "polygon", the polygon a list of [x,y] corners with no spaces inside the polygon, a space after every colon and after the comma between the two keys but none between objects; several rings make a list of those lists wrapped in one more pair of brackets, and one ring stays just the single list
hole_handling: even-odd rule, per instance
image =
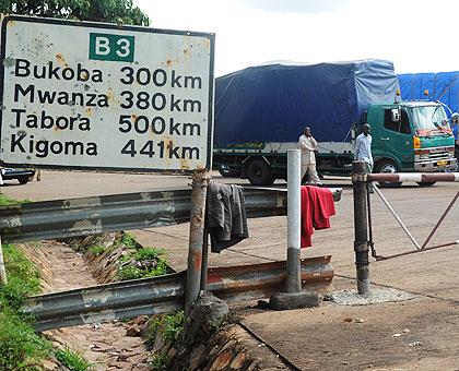
[{"label": "green-cabbed truck with dark blue tarpaulin-covered load", "polygon": [[369,123],[375,172],[454,170],[443,105],[401,100],[399,89],[393,63],[378,59],[269,63],[217,77],[214,168],[256,185],[286,179],[286,151],[309,127],[319,175],[349,175],[354,140]]}]

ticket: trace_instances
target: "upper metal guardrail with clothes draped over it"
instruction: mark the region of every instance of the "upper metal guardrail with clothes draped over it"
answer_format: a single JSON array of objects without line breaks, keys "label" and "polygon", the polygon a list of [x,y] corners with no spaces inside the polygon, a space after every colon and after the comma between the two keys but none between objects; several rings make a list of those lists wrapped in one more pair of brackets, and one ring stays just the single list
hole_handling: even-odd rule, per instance
[{"label": "upper metal guardrail with clothes draped over it", "polygon": [[[334,200],[341,189],[331,190]],[[244,188],[247,217],[286,215],[286,190]],[[2,241],[96,235],[189,222],[191,189],[42,201],[0,207]]]}]

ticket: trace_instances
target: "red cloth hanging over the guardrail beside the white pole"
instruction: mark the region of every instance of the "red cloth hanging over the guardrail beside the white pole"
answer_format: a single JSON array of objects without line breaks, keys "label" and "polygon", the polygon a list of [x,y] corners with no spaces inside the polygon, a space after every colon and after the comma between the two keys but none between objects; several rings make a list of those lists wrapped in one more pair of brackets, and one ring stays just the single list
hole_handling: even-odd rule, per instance
[{"label": "red cloth hanging over the guardrail beside the white pole", "polygon": [[314,229],[330,228],[336,214],[333,193],[328,188],[302,185],[302,249],[313,246]]}]

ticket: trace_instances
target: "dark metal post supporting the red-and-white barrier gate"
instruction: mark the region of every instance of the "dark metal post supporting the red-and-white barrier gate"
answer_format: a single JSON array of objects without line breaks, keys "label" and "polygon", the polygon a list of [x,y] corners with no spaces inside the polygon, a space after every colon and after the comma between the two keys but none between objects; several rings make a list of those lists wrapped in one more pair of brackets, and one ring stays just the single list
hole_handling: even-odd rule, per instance
[{"label": "dark metal post supporting the red-and-white barrier gate", "polygon": [[357,271],[358,295],[367,297],[369,294],[368,272],[368,225],[367,225],[367,190],[364,161],[352,163],[352,183],[354,184],[354,251]]}]

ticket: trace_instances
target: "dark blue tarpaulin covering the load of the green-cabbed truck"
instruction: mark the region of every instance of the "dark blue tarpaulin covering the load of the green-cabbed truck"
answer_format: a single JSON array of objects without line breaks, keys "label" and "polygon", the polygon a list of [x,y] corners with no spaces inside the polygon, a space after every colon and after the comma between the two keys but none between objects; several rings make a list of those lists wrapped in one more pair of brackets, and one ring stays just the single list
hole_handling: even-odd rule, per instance
[{"label": "dark blue tarpaulin covering the load of the green-cabbed truck", "polygon": [[392,62],[275,63],[216,79],[214,146],[296,142],[311,128],[319,142],[346,142],[372,103],[393,103]]}]

